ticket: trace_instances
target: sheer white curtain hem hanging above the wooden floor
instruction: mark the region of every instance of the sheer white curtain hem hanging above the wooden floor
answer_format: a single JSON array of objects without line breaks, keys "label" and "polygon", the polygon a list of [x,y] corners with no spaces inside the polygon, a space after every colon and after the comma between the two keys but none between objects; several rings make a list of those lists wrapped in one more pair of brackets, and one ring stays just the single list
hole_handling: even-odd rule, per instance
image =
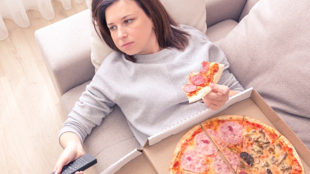
[{"label": "sheer white curtain hem hanging above the wooden floor", "polygon": [[[58,0],[62,3],[64,9],[71,8],[70,0]],[[74,0],[81,3],[83,0]],[[45,19],[54,18],[54,10],[51,5],[51,0],[0,0],[0,40],[8,36],[8,31],[3,22],[3,18],[12,19],[21,27],[30,25],[26,10],[36,9]]]}]

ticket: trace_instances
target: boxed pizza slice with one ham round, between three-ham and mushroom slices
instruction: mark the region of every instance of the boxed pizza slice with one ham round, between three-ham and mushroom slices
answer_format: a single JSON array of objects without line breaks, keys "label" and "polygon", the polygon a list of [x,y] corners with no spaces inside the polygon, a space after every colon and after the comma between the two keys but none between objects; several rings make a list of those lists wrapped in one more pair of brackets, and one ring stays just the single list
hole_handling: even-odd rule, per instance
[{"label": "boxed pizza slice with one ham round, between three-ham and mushroom slices", "polygon": [[224,115],[201,123],[205,132],[221,151],[231,168],[236,171],[242,151],[243,116]]}]

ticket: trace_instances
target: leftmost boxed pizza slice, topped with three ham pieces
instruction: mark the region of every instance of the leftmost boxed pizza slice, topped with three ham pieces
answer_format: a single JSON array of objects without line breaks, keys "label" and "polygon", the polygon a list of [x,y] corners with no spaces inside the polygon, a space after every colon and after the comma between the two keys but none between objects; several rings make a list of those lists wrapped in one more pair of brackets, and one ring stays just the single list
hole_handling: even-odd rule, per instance
[{"label": "leftmost boxed pizza slice, topped with three ham pieces", "polygon": [[170,160],[169,170],[170,174],[233,173],[200,124],[188,130],[178,141]]}]

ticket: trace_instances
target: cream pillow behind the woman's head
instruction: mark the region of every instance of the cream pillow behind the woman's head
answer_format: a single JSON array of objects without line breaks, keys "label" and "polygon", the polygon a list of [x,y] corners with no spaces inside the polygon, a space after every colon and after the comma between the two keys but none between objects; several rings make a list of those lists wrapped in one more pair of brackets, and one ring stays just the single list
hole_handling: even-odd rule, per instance
[{"label": "cream pillow behind the woman's head", "polygon": [[[90,1],[86,0],[88,7],[90,7]],[[175,0],[160,1],[177,23],[187,24],[203,33],[206,32],[204,0],[177,0],[177,3],[175,3]],[[91,27],[90,30],[91,62],[96,71],[112,49],[98,37],[94,27]]]}]

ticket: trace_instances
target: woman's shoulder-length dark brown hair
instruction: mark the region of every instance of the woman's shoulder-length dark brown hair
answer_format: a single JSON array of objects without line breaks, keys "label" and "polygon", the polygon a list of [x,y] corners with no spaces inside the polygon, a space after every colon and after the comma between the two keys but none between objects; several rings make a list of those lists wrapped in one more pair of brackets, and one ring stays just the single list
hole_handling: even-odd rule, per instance
[{"label": "woman's shoulder-length dark brown hair", "polygon": [[[99,28],[100,34],[105,43],[117,52],[124,54],[126,59],[134,61],[132,55],[120,51],[112,40],[109,28],[107,27],[105,20],[105,9],[116,2],[117,0],[92,0],[91,12],[92,12],[92,23],[95,27]],[[177,23],[171,18],[164,6],[159,0],[134,0],[145,12],[145,14],[152,19],[154,23],[154,30],[157,37],[159,47],[175,47],[179,50],[184,50],[188,45],[189,33],[177,29]],[[95,27],[98,33],[98,30]]]}]

